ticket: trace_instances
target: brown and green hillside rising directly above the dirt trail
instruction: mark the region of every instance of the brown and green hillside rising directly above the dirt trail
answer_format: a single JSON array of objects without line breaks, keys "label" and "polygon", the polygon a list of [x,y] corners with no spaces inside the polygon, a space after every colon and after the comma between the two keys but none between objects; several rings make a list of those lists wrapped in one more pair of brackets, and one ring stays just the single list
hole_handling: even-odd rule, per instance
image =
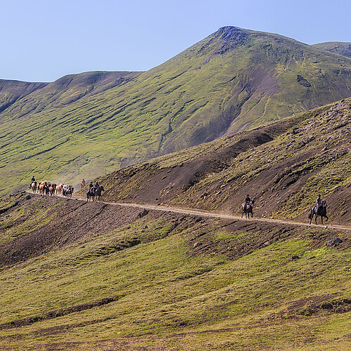
[{"label": "brown and green hillside rising directly above the dirt trail", "polygon": [[351,222],[351,100],[101,177],[112,200],[306,220],[318,192],[334,224]]}]

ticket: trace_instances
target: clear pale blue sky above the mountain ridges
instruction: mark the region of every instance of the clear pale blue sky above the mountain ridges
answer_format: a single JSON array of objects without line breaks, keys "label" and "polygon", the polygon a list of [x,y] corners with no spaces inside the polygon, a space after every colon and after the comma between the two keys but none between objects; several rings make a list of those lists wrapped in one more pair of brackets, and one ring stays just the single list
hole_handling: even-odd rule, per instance
[{"label": "clear pale blue sky above the mountain ridges", "polygon": [[350,0],[0,0],[0,79],[143,71],[219,27],[351,42]]}]

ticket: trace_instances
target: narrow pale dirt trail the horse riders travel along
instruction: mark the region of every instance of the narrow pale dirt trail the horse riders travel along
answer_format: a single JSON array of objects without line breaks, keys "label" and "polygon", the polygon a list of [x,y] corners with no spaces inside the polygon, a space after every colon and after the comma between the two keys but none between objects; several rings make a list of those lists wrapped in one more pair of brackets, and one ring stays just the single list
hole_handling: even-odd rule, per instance
[{"label": "narrow pale dirt trail the horse riders travel along", "polygon": [[[77,199],[81,201],[86,201],[84,197],[72,197],[72,199]],[[329,228],[329,229],[336,229],[336,230],[350,230],[351,227],[343,226],[343,225],[310,225],[308,223],[302,222],[293,222],[289,220],[275,220],[272,218],[253,218],[253,219],[246,219],[241,218],[240,216],[233,216],[228,215],[225,213],[214,213],[204,210],[198,210],[196,208],[180,208],[180,207],[172,207],[172,206],[161,206],[161,205],[151,205],[151,204],[133,204],[133,203],[123,203],[123,202],[107,202],[107,201],[100,201],[103,204],[111,204],[116,206],[126,206],[126,207],[136,207],[136,208],[146,208],[148,210],[155,210],[155,211],[164,211],[164,212],[174,212],[174,213],[182,213],[187,215],[194,215],[194,216],[203,216],[203,217],[212,217],[212,218],[224,218],[224,219],[231,219],[231,220],[246,220],[251,222],[266,222],[266,223],[282,223],[282,224],[289,224],[289,225],[299,225],[303,227],[321,227],[321,228]]]}]

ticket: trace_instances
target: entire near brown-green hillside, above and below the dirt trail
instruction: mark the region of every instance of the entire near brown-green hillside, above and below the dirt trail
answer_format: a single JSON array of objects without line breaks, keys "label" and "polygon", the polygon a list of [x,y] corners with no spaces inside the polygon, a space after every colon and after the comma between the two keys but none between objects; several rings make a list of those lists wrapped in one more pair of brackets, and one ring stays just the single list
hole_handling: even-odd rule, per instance
[{"label": "entire near brown-green hillside, above and below the dirt trail", "polygon": [[104,202],[0,199],[0,349],[347,350],[350,122],[347,98],[133,164]]}]

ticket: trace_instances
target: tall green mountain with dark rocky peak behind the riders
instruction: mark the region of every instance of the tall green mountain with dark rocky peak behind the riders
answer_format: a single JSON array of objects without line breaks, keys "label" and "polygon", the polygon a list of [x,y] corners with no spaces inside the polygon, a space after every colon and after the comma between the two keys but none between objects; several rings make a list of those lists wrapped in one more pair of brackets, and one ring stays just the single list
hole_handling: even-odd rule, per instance
[{"label": "tall green mountain with dark rocky peak behind the riders", "polygon": [[0,192],[32,173],[75,185],[350,96],[350,67],[292,39],[225,27],[101,93],[67,90],[67,104],[35,91],[0,114]]}]

